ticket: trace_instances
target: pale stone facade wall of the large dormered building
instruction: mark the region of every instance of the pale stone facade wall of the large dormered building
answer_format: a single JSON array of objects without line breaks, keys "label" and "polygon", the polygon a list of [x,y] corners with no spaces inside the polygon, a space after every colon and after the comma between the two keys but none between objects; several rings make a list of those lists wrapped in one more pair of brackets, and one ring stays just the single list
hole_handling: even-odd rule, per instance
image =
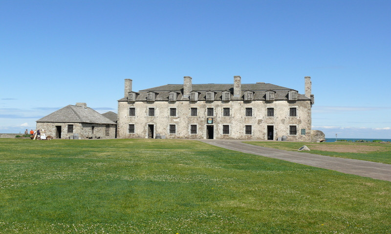
[{"label": "pale stone facade wall of the large dormered building", "polygon": [[[129,108],[135,108],[135,117],[129,116]],[[148,116],[148,108],[155,108],[155,116]],[[190,108],[197,108],[197,116],[190,116]],[[267,139],[267,126],[273,126],[273,139],[287,136],[289,141],[309,141],[311,139],[311,105],[303,101],[136,101],[118,102],[118,138],[147,138],[148,125],[156,134],[167,138],[207,138],[207,108],[214,108],[214,139]],[[223,116],[223,108],[230,108],[230,116]],[[267,117],[267,108],[274,108],[274,117]],[[297,108],[297,116],[289,117],[289,108]],[[170,117],[170,108],[176,108],[176,117]],[[245,109],[252,108],[252,116],[245,116]],[[128,131],[129,124],[135,125],[135,133]],[[170,134],[169,125],[174,124],[176,133]],[[197,125],[197,134],[190,134],[190,125]],[[229,135],[223,135],[223,125],[229,125]],[[245,125],[252,126],[252,134],[245,134]],[[297,128],[297,135],[289,135],[289,126]],[[304,129],[304,135],[302,135]]]}]

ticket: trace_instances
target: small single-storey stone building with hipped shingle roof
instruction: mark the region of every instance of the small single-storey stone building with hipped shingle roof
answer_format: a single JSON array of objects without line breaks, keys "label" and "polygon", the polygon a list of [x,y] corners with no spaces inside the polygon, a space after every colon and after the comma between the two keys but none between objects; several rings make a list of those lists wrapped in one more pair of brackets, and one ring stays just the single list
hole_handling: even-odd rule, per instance
[{"label": "small single-storey stone building with hipped shingle roof", "polygon": [[111,139],[116,135],[116,123],[83,102],[67,105],[38,119],[37,129],[43,129],[46,136],[62,139],[73,139],[73,136],[80,139]]}]

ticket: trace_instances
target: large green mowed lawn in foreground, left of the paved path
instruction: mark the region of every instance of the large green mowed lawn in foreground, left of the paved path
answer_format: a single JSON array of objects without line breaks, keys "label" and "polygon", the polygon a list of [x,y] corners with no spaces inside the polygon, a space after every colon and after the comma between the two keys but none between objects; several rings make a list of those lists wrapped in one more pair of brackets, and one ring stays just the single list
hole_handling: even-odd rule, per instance
[{"label": "large green mowed lawn in foreground, left of the paved path", "polygon": [[193,140],[0,139],[0,233],[391,233],[391,183]]}]

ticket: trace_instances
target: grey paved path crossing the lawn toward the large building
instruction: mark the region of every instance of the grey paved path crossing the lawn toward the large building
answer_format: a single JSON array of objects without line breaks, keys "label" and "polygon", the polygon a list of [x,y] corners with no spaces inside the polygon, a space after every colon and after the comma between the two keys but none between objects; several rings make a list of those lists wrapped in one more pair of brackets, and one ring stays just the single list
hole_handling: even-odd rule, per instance
[{"label": "grey paved path crossing the lawn toward the large building", "polygon": [[200,141],[243,153],[272,157],[342,173],[391,181],[391,164],[265,148],[246,144],[239,140],[207,139]]}]

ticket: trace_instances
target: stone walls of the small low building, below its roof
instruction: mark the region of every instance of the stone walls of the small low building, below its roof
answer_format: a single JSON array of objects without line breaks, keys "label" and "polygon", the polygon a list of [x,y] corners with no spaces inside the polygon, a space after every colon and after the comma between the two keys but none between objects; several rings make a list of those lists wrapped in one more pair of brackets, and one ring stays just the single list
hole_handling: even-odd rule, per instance
[{"label": "stone walls of the small low building, below its roof", "polygon": [[[73,132],[68,133],[68,125],[73,125]],[[37,122],[37,129],[43,129],[44,133],[47,136],[52,136],[53,138],[58,138],[57,127],[61,126],[61,138],[73,139],[73,134],[79,134],[81,139],[113,139],[115,138],[115,124],[110,124],[109,136],[106,136],[106,124],[91,124],[91,123],[52,123],[52,122]],[[94,126],[94,131],[92,133],[92,126]]]}]

